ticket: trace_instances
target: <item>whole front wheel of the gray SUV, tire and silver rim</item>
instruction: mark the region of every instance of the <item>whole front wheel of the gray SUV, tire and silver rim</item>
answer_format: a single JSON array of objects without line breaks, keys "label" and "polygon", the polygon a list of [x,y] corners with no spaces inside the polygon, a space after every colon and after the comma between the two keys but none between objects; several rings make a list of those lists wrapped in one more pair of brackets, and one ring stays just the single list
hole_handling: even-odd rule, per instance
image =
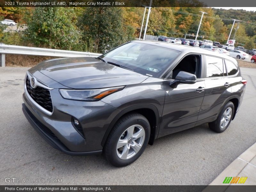
[{"label": "whole front wheel of the gray SUV, tire and silver rim", "polygon": [[141,156],[149,136],[147,118],[139,113],[130,113],[119,119],[109,133],[103,154],[116,167],[129,165]]}]

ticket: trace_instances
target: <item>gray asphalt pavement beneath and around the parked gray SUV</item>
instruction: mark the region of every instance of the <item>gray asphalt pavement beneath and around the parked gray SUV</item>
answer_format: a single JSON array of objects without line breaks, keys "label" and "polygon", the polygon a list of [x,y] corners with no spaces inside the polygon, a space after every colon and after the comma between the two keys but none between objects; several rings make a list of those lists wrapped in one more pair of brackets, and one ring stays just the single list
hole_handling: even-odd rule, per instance
[{"label": "gray asphalt pavement beneath and around the parked gray SUV", "polygon": [[256,141],[256,69],[242,68],[246,93],[225,132],[212,132],[204,124],[165,136],[123,168],[111,166],[101,155],[68,156],[49,146],[22,113],[27,69],[0,68],[0,185],[13,184],[5,183],[6,177],[62,179],[66,185],[208,185]]}]

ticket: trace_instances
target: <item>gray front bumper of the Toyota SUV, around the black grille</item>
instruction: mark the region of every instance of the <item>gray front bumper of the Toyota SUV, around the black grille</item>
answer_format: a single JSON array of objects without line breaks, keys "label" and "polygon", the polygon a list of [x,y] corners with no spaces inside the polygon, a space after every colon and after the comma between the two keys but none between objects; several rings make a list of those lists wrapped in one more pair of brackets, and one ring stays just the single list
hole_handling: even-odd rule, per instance
[{"label": "gray front bumper of the Toyota SUV, around the black grille", "polygon": [[[49,80],[49,77],[44,75],[34,77],[41,82]],[[57,87],[63,88],[61,85]],[[46,113],[29,96],[25,82],[23,112],[35,130],[52,147],[69,155],[101,153],[105,133],[113,118],[120,111],[102,101],[86,102],[63,99],[58,88],[51,88],[50,94],[53,111]],[[82,131],[73,125],[72,118],[78,119]]]}]

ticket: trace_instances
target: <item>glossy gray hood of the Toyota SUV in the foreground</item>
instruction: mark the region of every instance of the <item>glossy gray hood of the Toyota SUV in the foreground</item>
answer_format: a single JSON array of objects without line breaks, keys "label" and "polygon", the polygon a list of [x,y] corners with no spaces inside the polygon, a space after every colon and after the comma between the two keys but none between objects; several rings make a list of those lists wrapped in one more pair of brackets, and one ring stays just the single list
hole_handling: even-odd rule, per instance
[{"label": "glossy gray hood of the Toyota SUV in the foreground", "polygon": [[139,84],[148,78],[92,57],[46,60],[35,68],[52,80],[73,89]]}]

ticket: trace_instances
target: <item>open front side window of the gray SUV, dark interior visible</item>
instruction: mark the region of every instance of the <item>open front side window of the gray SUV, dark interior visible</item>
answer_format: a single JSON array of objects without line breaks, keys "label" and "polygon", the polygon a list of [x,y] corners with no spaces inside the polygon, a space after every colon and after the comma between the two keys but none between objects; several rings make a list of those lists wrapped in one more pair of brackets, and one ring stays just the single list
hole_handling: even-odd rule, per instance
[{"label": "open front side window of the gray SUV, dark interior visible", "polygon": [[180,71],[185,71],[196,75],[196,78],[201,77],[201,56],[188,55],[184,57],[180,63],[172,70],[169,78],[175,79]]}]

